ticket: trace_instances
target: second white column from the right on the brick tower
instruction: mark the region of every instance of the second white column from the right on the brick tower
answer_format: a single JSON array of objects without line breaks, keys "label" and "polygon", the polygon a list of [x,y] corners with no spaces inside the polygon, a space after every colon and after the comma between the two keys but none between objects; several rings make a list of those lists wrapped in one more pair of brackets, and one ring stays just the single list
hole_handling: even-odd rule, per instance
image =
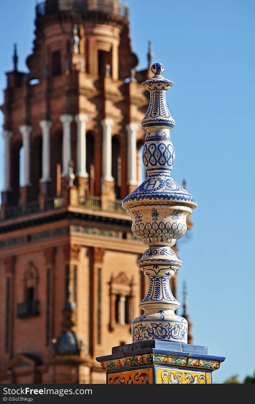
[{"label": "second white column from the right on the brick tower", "polygon": [[103,126],[103,151],[102,151],[102,173],[103,180],[113,182],[112,177],[112,125],[113,120],[105,118],[101,120]]}]

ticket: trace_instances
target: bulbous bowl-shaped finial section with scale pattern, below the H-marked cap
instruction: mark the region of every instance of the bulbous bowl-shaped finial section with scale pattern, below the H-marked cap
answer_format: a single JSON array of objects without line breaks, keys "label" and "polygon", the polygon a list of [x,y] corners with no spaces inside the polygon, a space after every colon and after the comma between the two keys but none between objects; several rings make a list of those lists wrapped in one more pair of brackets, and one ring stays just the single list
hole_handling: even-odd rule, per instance
[{"label": "bulbous bowl-shaped finial section with scale pattern, below the H-marked cap", "polygon": [[138,205],[127,209],[133,219],[133,234],[144,244],[164,243],[174,245],[187,231],[186,218],[191,208],[182,205]]}]

